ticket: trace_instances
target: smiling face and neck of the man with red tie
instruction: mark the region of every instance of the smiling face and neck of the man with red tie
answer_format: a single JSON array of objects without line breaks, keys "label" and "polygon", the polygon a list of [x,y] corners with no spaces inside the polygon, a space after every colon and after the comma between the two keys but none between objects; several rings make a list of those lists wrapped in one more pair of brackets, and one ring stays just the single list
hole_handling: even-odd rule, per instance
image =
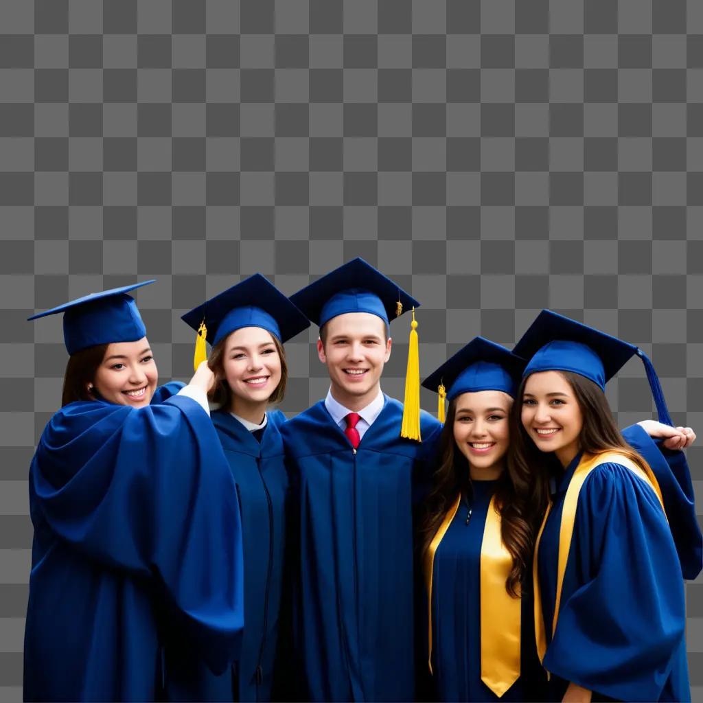
[{"label": "smiling face and neck of the man with red tie", "polygon": [[379,392],[383,366],[391,355],[386,325],[376,315],[350,312],[325,324],[325,343],[317,342],[327,365],[335,399],[350,409],[368,405]]}]

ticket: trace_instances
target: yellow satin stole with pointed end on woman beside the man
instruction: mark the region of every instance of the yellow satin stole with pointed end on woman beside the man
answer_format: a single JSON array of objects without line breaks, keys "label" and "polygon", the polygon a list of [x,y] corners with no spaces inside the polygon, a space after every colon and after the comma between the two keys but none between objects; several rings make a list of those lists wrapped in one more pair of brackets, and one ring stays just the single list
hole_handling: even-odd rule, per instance
[{"label": "yellow satin stole with pointed end on woman beside the man", "polygon": [[[481,680],[498,697],[520,676],[520,598],[505,591],[505,579],[512,568],[512,557],[501,540],[501,515],[491,498],[481,543]],[[432,671],[432,572],[434,554],[454,519],[461,496],[444,516],[437,534],[423,555],[427,588],[428,642]]]}]

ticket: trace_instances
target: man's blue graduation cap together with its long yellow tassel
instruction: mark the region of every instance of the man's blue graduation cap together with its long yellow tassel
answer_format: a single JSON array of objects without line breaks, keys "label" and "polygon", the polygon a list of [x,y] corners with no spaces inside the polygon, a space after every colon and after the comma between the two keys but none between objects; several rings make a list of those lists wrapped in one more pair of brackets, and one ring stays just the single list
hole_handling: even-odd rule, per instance
[{"label": "man's blue graduation cap together with its long yellow tassel", "polygon": [[359,257],[318,278],[290,299],[318,327],[350,312],[370,313],[389,325],[393,318],[412,311],[401,437],[420,441],[420,363],[415,331],[415,308],[420,303]]}]

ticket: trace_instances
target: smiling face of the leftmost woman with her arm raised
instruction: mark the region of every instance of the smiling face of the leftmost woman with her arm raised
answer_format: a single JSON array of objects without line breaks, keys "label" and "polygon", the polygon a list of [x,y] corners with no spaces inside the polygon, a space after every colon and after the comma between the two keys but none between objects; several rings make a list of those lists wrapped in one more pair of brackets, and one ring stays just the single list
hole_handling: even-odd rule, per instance
[{"label": "smiling face of the leftmost woman with her arm raised", "polygon": [[159,372],[146,337],[108,344],[93,385],[103,400],[142,408],[150,404]]}]

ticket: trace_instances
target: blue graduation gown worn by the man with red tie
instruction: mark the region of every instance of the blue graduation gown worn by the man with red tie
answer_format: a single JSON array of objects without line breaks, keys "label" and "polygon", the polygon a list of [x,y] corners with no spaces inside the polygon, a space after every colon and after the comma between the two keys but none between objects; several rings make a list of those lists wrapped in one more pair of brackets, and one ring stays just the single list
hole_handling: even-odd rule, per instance
[{"label": "blue graduation gown worn by the man with red tie", "polygon": [[356,452],[323,401],[283,426],[299,513],[296,650],[312,700],[413,699],[413,477],[441,425],[423,412],[419,443],[399,436],[402,416],[385,396]]}]

